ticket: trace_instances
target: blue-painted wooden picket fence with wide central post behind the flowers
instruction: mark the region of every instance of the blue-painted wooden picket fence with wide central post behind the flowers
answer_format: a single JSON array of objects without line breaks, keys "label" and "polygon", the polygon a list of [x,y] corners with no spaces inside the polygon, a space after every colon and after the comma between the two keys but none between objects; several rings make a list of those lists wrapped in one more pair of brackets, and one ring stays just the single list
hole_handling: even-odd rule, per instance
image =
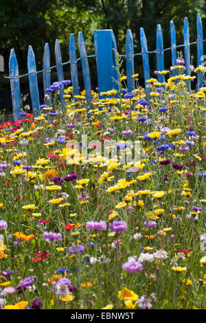
[{"label": "blue-painted wooden picket fence with wide central post behind the flowers", "polygon": [[[140,44],[141,44],[141,53],[134,54],[133,49],[133,34],[131,30],[127,30],[126,33],[126,53],[125,55],[121,55],[126,59],[126,76],[127,76],[127,87],[128,92],[133,91],[135,87],[135,81],[132,77],[135,74],[134,69],[134,58],[135,56],[141,56],[142,63],[144,67],[144,81],[146,94],[149,94],[149,89],[146,87],[146,80],[150,78],[150,64],[149,64],[149,54],[156,54],[157,56],[157,71],[164,70],[164,52],[170,50],[171,51],[171,61],[172,66],[176,65],[176,49],[183,47],[184,48],[184,58],[185,58],[185,74],[190,75],[190,46],[196,45],[197,49],[197,60],[196,66],[203,65],[203,43],[206,41],[203,40],[203,25],[201,22],[201,15],[197,14],[196,17],[196,30],[197,30],[197,38],[196,41],[190,43],[189,36],[189,23],[187,17],[184,20],[183,25],[183,45],[176,45],[176,33],[174,28],[173,21],[170,21],[170,39],[171,39],[171,47],[163,49],[163,33],[161,30],[161,25],[157,25],[157,41],[156,41],[156,49],[153,52],[148,52],[148,45],[146,40],[146,35],[144,32],[144,28],[140,28]],[[70,36],[69,41],[69,61],[66,63],[62,63],[62,56],[60,52],[60,44],[58,39],[55,44],[55,57],[56,57],[56,65],[50,66],[50,52],[49,45],[45,44],[45,51],[43,55],[43,69],[41,71],[36,71],[36,62],[35,56],[32,49],[32,46],[29,46],[28,55],[27,55],[27,69],[28,73],[24,75],[19,75],[19,66],[16,60],[16,54],[14,49],[11,50],[10,60],[9,60],[9,71],[10,76],[10,86],[12,93],[12,106],[14,112],[14,120],[19,120],[21,117],[19,116],[19,112],[21,111],[21,90],[20,90],[20,78],[24,76],[28,76],[29,85],[30,85],[30,96],[32,100],[32,110],[34,116],[39,115],[40,109],[40,101],[38,94],[38,80],[37,74],[43,73],[43,87],[44,91],[49,88],[51,85],[51,71],[52,69],[56,69],[58,75],[58,81],[64,80],[64,72],[63,66],[70,65],[71,69],[71,82],[73,86],[73,96],[79,95],[79,82],[78,82],[78,60],[81,60],[82,63],[82,72],[84,78],[84,89],[86,92],[86,100],[88,104],[91,104],[91,78],[89,71],[89,60],[88,58],[95,57],[97,63],[97,71],[98,71],[98,91],[99,95],[101,92],[108,91],[111,89],[117,89],[117,84],[114,82],[113,78],[117,79],[117,71],[113,68],[115,66],[115,51],[113,49],[117,49],[115,35],[113,34],[113,30],[95,30],[94,32],[94,47],[95,54],[91,56],[87,56],[87,50],[84,43],[84,36],[82,32],[78,34],[78,47],[80,51],[80,58],[76,58],[76,45],[73,34]],[[172,71],[172,75],[176,75],[176,71]],[[161,74],[157,75],[159,82],[163,82],[163,76]],[[190,82],[187,81],[188,90],[190,90]],[[197,89],[203,87],[203,73],[197,75]],[[46,93],[46,92],[45,92]],[[61,107],[65,107],[65,99],[64,99],[64,89],[60,89],[60,102]],[[52,104],[50,99],[49,104]]]}]

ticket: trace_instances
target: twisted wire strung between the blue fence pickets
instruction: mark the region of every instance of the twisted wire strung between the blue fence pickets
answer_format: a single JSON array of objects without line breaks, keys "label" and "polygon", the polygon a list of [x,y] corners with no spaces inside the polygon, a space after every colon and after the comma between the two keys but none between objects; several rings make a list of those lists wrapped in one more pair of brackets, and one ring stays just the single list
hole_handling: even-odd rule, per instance
[{"label": "twisted wire strung between the blue fence pickets", "polygon": [[[197,41],[198,41],[198,39],[197,39]],[[189,46],[190,45],[195,45],[195,44],[197,44],[197,41],[194,41],[194,42],[192,42],[192,43],[190,43],[189,44]],[[204,39],[203,40],[203,43],[205,43],[205,41],[206,41],[206,39]],[[185,47],[186,45],[185,44],[183,44],[183,45],[176,45],[175,47],[168,47],[168,48],[165,48],[165,49],[163,49],[163,52],[166,52],[166,51],[168,51],[168,50],[171,50],[171,49],[176,49],[176,48],[181,48],[181,47]],[[163,52],[159,52],[159,54],[163,54]],[[141,52],[141,53],[137,53],[137,54],[133,54],[133,56],[131,56],[131,57],[135,57],[135,56],[138,56],[138,55],[142,55],[142,54],[157,54],[158,53],[158,51],[157,51],[157,49],[155,49],[155,50],[153,50],[152,52]],[[120,55],[121,57],[124,57],[124,58],[128,58],[128,57],[130,57],[130,56],[127,56],[127,55]],[[96,57],[96,55],[94,54],[94,55],[89,55],[89,56],[86,56],[87,58],[92,58],[92,57]],[[78,62],[78,60],[81,60],[83,57],[80,57],[80,58],[77,58],[77,60],[75,61],[75,62],[73,62],[73,63],[77,63]],[[61,63],[60,65],[62,65],[62,66],[64,66],[64,65],[68,65],[68,64],[70,64],[70,60],[68,60],[68,62],[65,62],[65,63]],[[49,68],[49,71],[51,71],[51,69],[55,69],[56,68],[56,65],[54,65],[54,66],[52,66],[52,67],[50,67]],[[43,71],[44,71],[44,69],[41,69],[41,71],[36,71],[35,73],[36,74],[39,74],[39,73],[43,73]],[[19,75],[17,78],[23,78],[24,76],[28,76],[29,75],[29,73],[27,73],[27,74],[23,74],[23,75]],[[4,76],[4,78],[11,78],[10,76]],[[16,78],[12,78],[12,80],[15,80]]]}]

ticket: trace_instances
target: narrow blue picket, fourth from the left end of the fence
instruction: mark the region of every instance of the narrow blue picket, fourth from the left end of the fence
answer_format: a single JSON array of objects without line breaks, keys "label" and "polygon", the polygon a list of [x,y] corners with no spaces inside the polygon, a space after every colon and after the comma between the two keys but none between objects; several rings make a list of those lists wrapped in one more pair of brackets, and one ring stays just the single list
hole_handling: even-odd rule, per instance
[{"label": "narrow blue picket, fourth from the left end of the fence", "polygon": [[[57,71],[57,77],[58,77],[58,81],[62,82],[62,80],[64,80],[64,72],[63,72],[63,67],[62,67],[62,54],[61,54],[61,50],[60,50],[60,44],[58,39],[56,39],[56,43],[55,43],[55,58],[56,58],[56,71]],[[60,103],[61,103],[61,109],[65,108],[65,87],[62,87],[62,89],[60,89]]]}]

